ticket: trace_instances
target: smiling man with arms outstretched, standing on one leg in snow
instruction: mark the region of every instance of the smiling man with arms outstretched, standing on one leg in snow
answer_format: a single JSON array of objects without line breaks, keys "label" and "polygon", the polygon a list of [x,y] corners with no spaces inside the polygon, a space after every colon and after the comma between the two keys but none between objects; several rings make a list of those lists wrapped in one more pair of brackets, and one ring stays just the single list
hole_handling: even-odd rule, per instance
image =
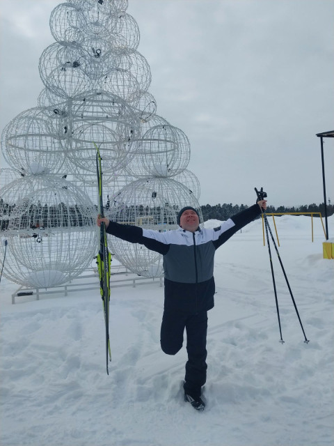
[{"label": "smiling man with arms outstretched, standing on one leg in snow", "polygon": [[182,348],[186,329],[186,374],[184,401],[204,410],[201,389],[207,378],[207,311],[214,307],[214,254],[234,233],[253,221],[267,208],[267,200],[234,215],[215,229],[200,229],[196,209],[187,206],[177,215],[179,229],[152,231],[138,226],[97,218],[106,224],[106,232],[140,243],[164,256],[165,300],[161,323],[161,348],[175,355]]}]

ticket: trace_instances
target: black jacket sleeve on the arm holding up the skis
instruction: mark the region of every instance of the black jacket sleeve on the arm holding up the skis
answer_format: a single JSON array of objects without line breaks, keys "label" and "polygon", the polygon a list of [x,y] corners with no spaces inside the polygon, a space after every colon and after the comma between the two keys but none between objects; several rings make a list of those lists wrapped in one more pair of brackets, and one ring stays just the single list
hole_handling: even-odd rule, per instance
[{"label": "black jacket sleeve on the arm holding up the skis", "polygon": [[159,254],[166,254],[169,249],[169,245],[144,237],[143,229],[139,226],[109,222],[106,232],[130,243],[140,243],[152,251],[159,252]]}]

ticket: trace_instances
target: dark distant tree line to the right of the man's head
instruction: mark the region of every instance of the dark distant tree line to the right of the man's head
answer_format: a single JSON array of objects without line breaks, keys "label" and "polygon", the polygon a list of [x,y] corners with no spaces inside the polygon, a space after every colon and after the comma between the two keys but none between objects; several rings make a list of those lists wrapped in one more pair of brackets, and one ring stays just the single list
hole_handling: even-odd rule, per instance
[{"label": "dark distant tree line to the right of the man's head", "polygon": [[[245,210],[248,208],[247,205],[241,204],[232,204],[232,203],[223,203],[223,204],[215,204],[214,206],[210,204],[205,204],[204,206],[200,206],[203,214],[204,221],[206,220],[228,220],[228,218],[232,217],[232,215],[235,215],[241,210]],[[267,207],[267,213],[310,213],[310,212],[317,212],[321,213],[322,217],[325,215],[325,206],[324,203],[316,204],[303,204],[301,206],[292,206],[292,208],[289,208],[287,206],[278,206],[276,208],[275,206],[268,206]],[[333,215],[334,213],[334,205],[328,204],[327,205],[327,215],[328,217],[330,215]],[[306,215],[306,214],[304,214]],[[319,215],[315,215],[315,217],[319,217]]]}]

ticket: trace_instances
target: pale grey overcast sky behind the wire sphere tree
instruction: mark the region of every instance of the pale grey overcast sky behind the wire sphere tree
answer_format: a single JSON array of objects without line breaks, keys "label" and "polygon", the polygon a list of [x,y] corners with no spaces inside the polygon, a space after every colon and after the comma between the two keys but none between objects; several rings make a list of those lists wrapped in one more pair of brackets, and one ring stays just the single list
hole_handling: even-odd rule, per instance
[{"label": "pale grey overcast sky behind the wire sphere tree", "polygon": [[[0,0],[0,131],[43,89],[57,0]],[[191,142],[200,204],[324,200],[320,141],[334,130],[334,1],[129,0],[157,114]],[[334,141],[325,139],[334,202]],[[1,156],[1,161],[3,160]],[[3,165],[3,164],[2,164]]]}]

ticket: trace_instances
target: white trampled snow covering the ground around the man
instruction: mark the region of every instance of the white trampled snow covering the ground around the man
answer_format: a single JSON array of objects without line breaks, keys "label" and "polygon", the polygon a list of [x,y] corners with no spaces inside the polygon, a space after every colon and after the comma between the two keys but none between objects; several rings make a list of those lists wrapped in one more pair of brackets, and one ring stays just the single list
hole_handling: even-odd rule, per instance
[{"label": "white trampled snow covering the ground around the man", "polygon": [[319,219],[314,243],[310,217],[275,220],[310,343],[271,247],[279,342],[268,249],[261,221],[252,222],[216,253],[202,413],[182,399],[185,347],[175,356],[160,349],[158,282],[112,289],[107,376],[98,284],[12,305],[17,286],[2,279],[1,446],[333,445],[334,260],[323,259]]}]

